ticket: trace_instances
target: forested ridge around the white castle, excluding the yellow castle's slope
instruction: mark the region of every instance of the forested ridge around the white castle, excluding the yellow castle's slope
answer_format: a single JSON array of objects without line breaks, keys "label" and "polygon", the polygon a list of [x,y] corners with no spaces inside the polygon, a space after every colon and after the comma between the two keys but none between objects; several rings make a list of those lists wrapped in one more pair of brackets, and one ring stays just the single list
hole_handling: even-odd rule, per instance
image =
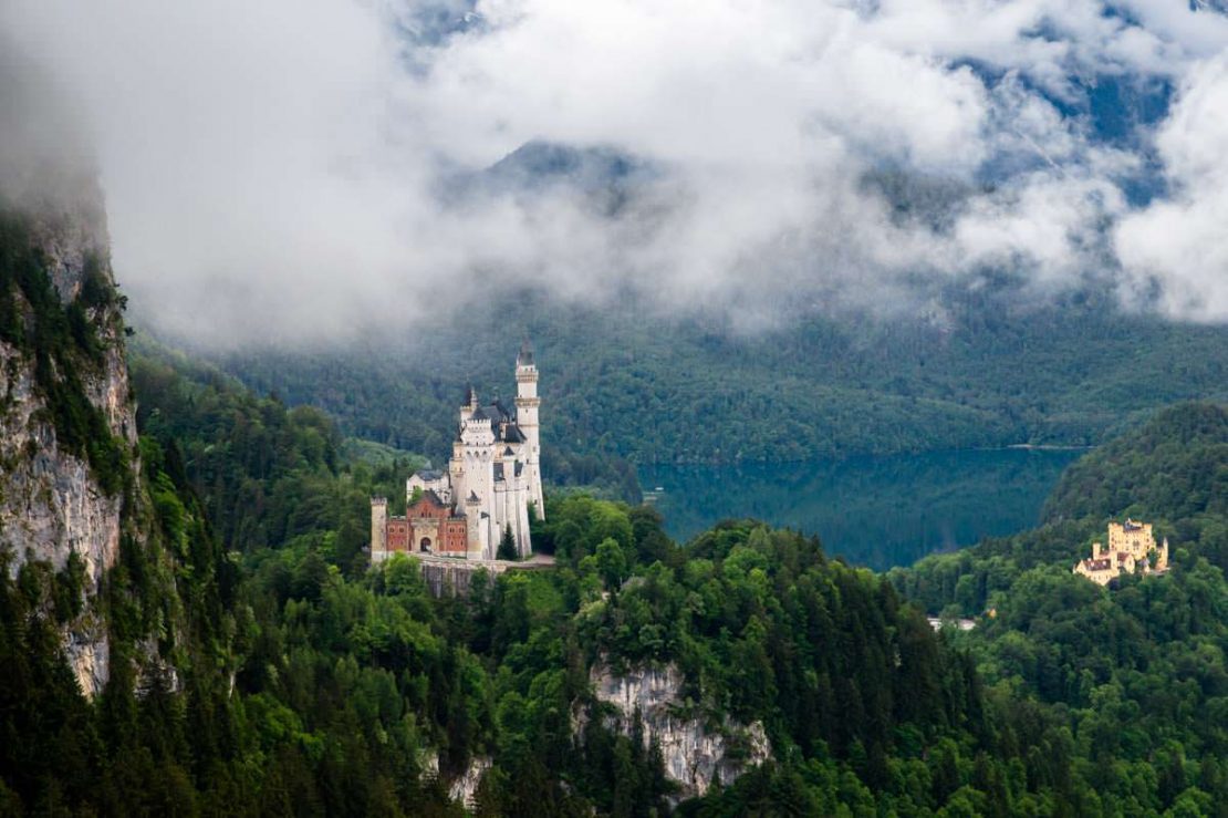
[{"label": "forested ridge around the white castle, excluding the yellow castle's slope", "polygon": [[183,361],[134,372],[165,551],[125,547],[106,578],[123,593],[102,615],[118,645],[171,624],[174,673],[115,673],[85,700],[47,630],[71,593],[37,564],[5,571],[7,811],[456,813],[445,786],[476,759],[491,764],[484,814],[664,809],[659,750],[569,716],[602,712],[598,663],[674,664],[699,723],[763,723],[798,760],[754,775],[780,777],[803,809],[950,796],[920,753],[979,730],[971,667],[817,542],[747,523],[679,549],[648,510],[565,497],[538,528],[558,570],[433,599],[411,561],[367,572],[348,545],[398,465],[338,464],[321,415],[201,382]]}]

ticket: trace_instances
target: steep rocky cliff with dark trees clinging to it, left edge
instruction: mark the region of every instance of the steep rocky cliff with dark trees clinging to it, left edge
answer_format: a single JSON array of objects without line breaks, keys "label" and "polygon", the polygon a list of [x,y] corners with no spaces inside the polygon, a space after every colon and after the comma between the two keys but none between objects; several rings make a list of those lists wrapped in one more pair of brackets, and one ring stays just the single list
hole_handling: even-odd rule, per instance
[{"label": "steep rocky cliff with dark trees clinging to it, left edge", "polygon": [[64,630],[86,695],[108,677],[97,594],[136,502],[135,409],[124,361],[101,195],[34,214],[0,212],[0,550],[84,566],[81,614]]}]

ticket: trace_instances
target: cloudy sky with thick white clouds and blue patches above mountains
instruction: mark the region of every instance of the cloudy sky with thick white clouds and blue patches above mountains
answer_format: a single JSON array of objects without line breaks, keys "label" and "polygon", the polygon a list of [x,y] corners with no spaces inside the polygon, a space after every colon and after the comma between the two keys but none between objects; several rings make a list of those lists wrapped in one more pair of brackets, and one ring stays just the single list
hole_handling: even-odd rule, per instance
[{"label": "cloudy sky with thick white clouds and blue patches above mountains", "polygon": [[[80,114],[138,321],[204,343],[413,332],[492,286],[770,316],[1000,269],[1222,322],[1228,18],[1111,5],[6,0],[0,68]],[[1114,84],[1158,112],[1109,133]],[[625,155],[630,195],[456,195],[532,140]]]}]

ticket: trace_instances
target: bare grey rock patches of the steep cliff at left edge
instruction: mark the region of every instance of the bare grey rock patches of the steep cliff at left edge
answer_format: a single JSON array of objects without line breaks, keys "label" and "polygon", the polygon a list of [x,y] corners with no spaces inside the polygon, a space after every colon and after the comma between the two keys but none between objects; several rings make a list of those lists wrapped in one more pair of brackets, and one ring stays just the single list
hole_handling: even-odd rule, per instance
[{"label": "bare grey rock patches of the steep cliff at left edge", "polygon": [[[93,221],[101,216],[71,216],[36,219],[32,228],[65,303],[81,290],[87,258],[107,258],[106,230]],[[117,311],[103,306],[87,312],[106,351],[101,366],[81,371],[81,386],[111,432],[134,451],[135,408]],[[131,469],[135,477],[135,457]],[[27,560],[49,563],[56,571],[74,551],[82,560],[86,604],[66,628],[64,646],[86,695],[99,691],[108,677],[106,625],[92,599],[119,555],[122,506],[122,493],[103,491],[86,459],[60,447],[47,399],[36,388],[32,356],[0,341],[0,548],[11,554],[12,576]]]}]

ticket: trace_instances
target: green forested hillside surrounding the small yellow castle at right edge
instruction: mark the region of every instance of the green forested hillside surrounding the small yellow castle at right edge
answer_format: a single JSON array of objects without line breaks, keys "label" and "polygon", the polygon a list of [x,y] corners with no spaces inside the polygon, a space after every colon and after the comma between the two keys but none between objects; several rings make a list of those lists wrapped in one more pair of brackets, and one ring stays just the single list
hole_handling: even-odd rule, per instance
[{"label": "green forested hillside surrounding the small yellow castle at right edge", "polygon": [[[1066,770],[1073,813],[1224,814],[1228,410],[1159,413],[1072,465],[1047,513],[1035,532],[890,578],[932,612],[976,617],[955,645],[991,709],[1013,714],[1012,741],[1052,731],[1045,752]],[[1126,515],[1170,538],[1172,570],[1110,588],[1072,575]]]}]

